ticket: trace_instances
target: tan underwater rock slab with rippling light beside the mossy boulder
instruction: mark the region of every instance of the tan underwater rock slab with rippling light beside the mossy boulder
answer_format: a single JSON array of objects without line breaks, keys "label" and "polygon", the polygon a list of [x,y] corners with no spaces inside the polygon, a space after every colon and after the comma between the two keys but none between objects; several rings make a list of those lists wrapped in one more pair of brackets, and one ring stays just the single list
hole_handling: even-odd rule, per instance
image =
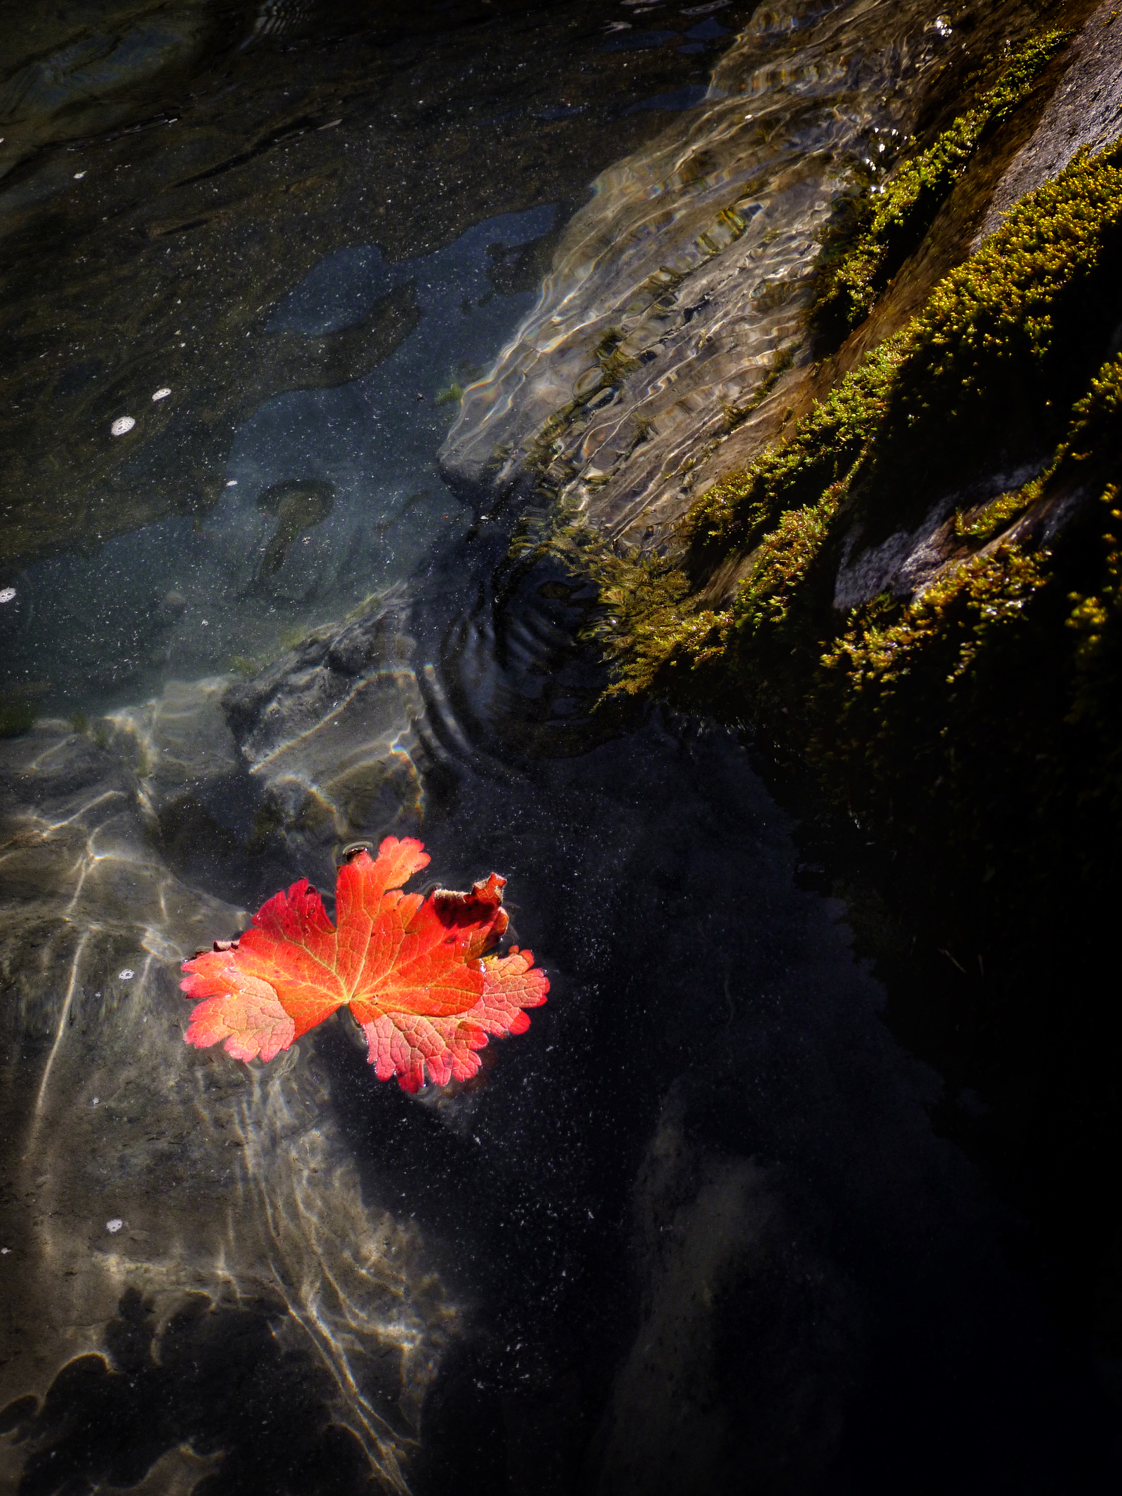
[{"label": "tan underwater rock slab with rippling light beside the mossy boulder", "polygon": [[911,129],[945,60],[936,6],[757,12],[682,124],[604,172],[534,313],[441,459],[467,488],[531,468],[568,510],[657,545],[693,473],[791,364],[817,241],[851,169]]}]

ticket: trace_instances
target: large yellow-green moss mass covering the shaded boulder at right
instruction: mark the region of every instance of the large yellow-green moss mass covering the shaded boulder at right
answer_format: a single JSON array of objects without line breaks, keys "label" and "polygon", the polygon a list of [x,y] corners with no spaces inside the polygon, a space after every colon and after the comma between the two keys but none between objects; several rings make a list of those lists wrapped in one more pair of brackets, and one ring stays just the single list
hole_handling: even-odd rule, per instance
[{"label": "large yellow-green moss mass covering the shaded boulder at right", "polygon": [[[1023,841],[1002,820],[1010,796],[1065,806],[1041,820],[1061,836],[1083,793],[1073,755],[1122,805],[1122,361],[1089,353],[1121,227],[1119,153],[1077,157],[782,446],[703,495],[678,564],[560,531],[554,549],[600,586],[613,690],[755,724],[854,814],[957,847],[963,887]],[[1037,476],[978,501],[977,479],[1010,452],[1035,456]],[[1076,527],[1083,539],[1040,549],[1031,516],[1088,492],[1107,494],[1101,536]],[[836,612],[853,527],[875,543],[947,495],[934,583]]]}]

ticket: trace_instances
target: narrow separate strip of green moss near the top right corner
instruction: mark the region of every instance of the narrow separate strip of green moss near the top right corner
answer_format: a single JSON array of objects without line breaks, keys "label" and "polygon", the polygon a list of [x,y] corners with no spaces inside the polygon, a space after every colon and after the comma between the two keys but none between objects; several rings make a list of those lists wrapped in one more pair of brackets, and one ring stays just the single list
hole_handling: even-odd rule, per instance
[{"label": "narrow separate strip of green moss near the top right corner", "polygon": [[1052,28],[1029,37],[972,109],[959,115],[926,151],[905,160],[883,190],[869,193],[857,212],[856,239],[841,254],[830,256],[827,248],[824,256],[823,290],[814,313],[818,326],[845,332],[869,314],[978,145],[1023,102],[1070,34]]}]

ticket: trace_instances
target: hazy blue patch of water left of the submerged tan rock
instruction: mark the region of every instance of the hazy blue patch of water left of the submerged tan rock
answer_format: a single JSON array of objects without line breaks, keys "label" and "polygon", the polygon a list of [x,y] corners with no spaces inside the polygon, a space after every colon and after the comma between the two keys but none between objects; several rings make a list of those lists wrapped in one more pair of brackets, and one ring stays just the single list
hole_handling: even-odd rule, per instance
[{"label": "hazy blue patch of water left of the submerged tan rock", "polygon": [[[533,299],[495,295],[488,271],[542,239],[555,215],[545,205],[489,218],[396,265],[373,245],[325,259],[268,332],[362,328],[374,305],[407,289],[408,335],[362,378],[262,404],[232,434],[221,498],[205,521],[166,519],[94,557],[28,568],[4,615],[16,678],[48,679],[51,700],[88,712],[120,702],[126,682],[133,693],[159,690],[232,660],[266,663],[281,634],[341,618],[410,576],[437,537],[461,540],[471,515],[434,461],[456,396],[438,401],[456,375],[479,370]],[[316,482],[323,501],[302,507],[286,536],[278,504],[262,507],[262,495]],[[286,543],[269,567],[274,537]]]}]

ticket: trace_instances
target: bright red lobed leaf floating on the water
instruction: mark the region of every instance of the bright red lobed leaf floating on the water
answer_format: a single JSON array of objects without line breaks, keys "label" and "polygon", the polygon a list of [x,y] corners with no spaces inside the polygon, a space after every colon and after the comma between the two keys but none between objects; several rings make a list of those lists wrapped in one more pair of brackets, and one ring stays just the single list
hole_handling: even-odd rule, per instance
[{"label": "bright red lobed leaf floating on the water", "polygon": [[546,1001],[549,981],[518,945],[485,954],[509,923],[506,878],[492,872],[470,893],[402,893],[428,860],[419,841],[387,836],[377,859],[362,851],[340,868],[337,925],[302,878],[239,939],[184,962],[181,987],[202,999],[187,1043],[224,1040],[235,1059],[272,1059],[347,1004],[378,1080],[417,1091],[425,1071],[441,1086],[474,1076],[488,1037],[525,1032],[524,1008]]}]

